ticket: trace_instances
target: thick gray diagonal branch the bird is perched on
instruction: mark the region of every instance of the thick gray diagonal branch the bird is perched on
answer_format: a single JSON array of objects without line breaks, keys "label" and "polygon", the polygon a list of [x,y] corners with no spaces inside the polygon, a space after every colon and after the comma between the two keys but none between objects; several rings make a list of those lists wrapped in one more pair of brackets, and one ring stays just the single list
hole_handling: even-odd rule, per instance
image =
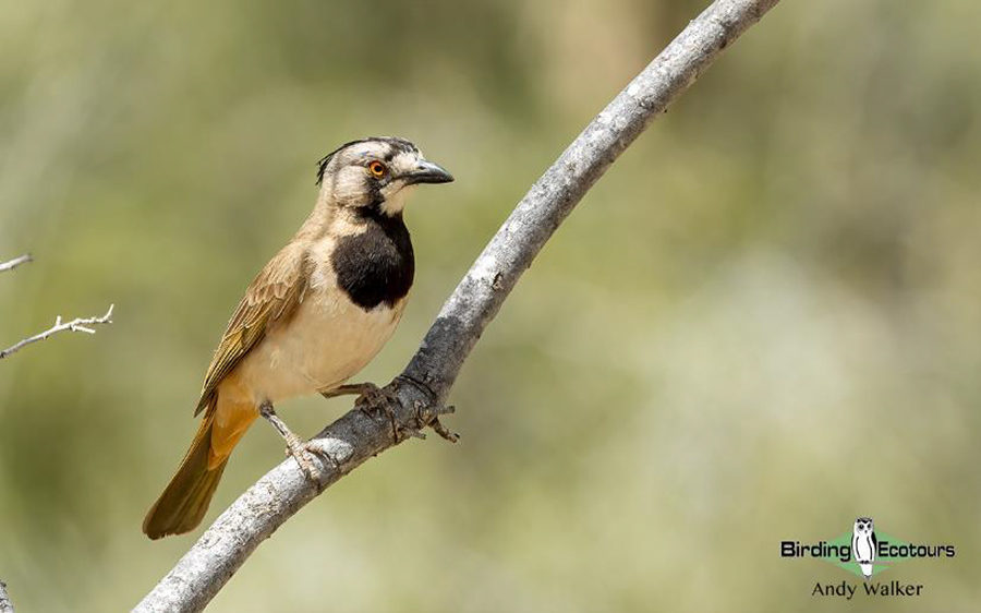
[{"label": "thick gray diagonal branch the bird is perched on", "polygon": [[287,459],[242,494],[177,566],[136,605],[140,612],[201,611],[261,542],[303,505],[368,458],[420,429],[443,429],[438,416],[471,349],[522,273],[582,196],[650,122],[685,92],[718,53],[779,0],[717,0],[678,35],[583,130],[491,240],[447,300],[419,351],[388,389],[393,418],[352,410],[314,438],[324,458],[307,480]]}]

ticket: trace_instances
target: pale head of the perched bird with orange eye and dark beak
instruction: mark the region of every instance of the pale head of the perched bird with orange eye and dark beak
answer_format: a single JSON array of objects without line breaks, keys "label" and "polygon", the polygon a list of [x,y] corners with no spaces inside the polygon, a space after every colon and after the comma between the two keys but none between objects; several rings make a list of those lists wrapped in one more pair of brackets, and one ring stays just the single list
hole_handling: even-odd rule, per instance
[{"label": "pale head of the perched bird with orange eye and dark beak", "polygon": [[401,215],[413,185],[452,180],[419,147],[392,136],[352,141],[327,154],[317,168],[322,202],[389,217]]}]

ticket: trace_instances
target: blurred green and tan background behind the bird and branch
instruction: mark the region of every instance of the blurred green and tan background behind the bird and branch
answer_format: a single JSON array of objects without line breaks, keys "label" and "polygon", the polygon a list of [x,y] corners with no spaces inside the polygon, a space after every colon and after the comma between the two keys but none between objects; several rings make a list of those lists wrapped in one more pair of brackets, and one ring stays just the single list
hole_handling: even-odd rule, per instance
[{"label": "blurred green and tan background behind the bird and branch", "polygon": [[[201,534],[140,531],[244,287],[315,161],[398,134],[457,177],[408,212],[385,382],[533,180],[705,1],[123,2],[0,12],[0,578],[121,611]],[[881,575],[981,600],[981,3],[784,2],[629,149],[451,401],[463,434],[360,468],[211,611],[837,610],[782,560],[857,515],[957,546]],[[281,407],[314,434],[350,400]],[[210,522],[282,459],[257,424]]]}]

